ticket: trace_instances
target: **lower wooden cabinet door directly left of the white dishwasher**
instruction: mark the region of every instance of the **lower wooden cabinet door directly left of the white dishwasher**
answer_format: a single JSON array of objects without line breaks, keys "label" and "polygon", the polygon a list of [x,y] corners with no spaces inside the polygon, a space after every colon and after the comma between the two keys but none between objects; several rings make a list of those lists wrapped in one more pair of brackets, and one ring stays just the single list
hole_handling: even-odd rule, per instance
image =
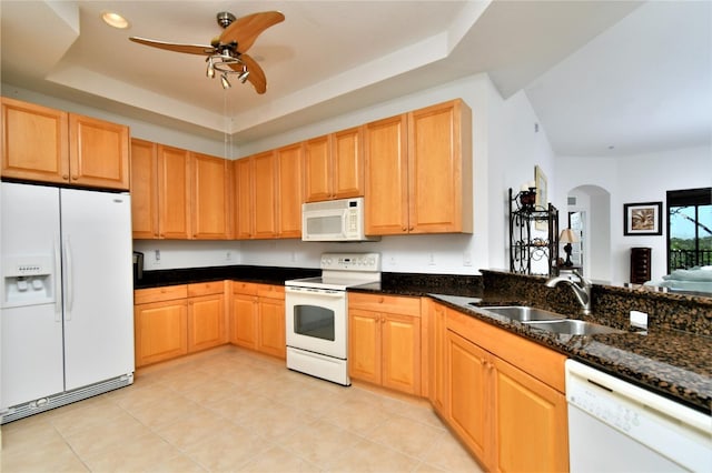
[{"label": "lower wooden cabinet door directly left of the white dishwasher", "polygon": [[494,436],[498,471],[568,471],[564,394],[494,359]]}]

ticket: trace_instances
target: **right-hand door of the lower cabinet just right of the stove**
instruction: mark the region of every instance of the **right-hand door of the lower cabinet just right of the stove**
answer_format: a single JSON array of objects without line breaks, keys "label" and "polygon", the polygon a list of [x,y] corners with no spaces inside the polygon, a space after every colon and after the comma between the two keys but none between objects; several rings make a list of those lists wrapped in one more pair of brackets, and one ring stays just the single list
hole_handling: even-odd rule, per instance
[{"label": "right-hand door of the lower cabinet just right of the stove", "polygon": [[421,395],[421,318],[383,314],[382,383]]}]

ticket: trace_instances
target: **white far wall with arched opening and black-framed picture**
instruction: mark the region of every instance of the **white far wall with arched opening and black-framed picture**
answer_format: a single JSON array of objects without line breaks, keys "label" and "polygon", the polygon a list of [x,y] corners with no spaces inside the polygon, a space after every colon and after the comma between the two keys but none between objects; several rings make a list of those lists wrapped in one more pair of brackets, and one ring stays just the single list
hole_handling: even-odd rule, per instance
[{"label": "white far wall with arched opening and black-framed picture", "polygon": [[[601,279],[609,279],[614,284],[629,281],[630,249],[634,246],[652,248],[653,280],[666,274],[665,192],[712,187],[711,147],[616,158],[558,157],[556,165],[560,182],[565,183],[560,187],[561,192],[593,184],[611,193],[611,273]],[[623,204],[635,202],[663,203],[662,235],[623,235]]]}]

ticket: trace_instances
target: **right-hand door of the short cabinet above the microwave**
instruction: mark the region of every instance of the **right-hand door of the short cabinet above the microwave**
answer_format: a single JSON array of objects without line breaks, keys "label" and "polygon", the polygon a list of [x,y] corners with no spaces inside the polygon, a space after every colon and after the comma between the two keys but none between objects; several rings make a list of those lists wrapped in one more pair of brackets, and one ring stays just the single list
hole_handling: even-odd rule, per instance
[{"label": "right-hand door of the short cabinet above the microwave", "polygon": [[363,127],[332,135],[332,193],[335,199],[364,195]]}]

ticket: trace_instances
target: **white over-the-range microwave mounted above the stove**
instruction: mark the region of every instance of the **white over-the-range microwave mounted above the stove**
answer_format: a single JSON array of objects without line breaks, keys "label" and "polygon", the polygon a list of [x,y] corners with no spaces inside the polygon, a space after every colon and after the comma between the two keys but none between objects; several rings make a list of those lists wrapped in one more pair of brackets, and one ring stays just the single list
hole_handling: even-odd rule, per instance
[{"label": "white over-the-range microwave mounted above the stove", "polygon": [[370,241],[364,224],[364,198],[301,204],[303,241]]}]

